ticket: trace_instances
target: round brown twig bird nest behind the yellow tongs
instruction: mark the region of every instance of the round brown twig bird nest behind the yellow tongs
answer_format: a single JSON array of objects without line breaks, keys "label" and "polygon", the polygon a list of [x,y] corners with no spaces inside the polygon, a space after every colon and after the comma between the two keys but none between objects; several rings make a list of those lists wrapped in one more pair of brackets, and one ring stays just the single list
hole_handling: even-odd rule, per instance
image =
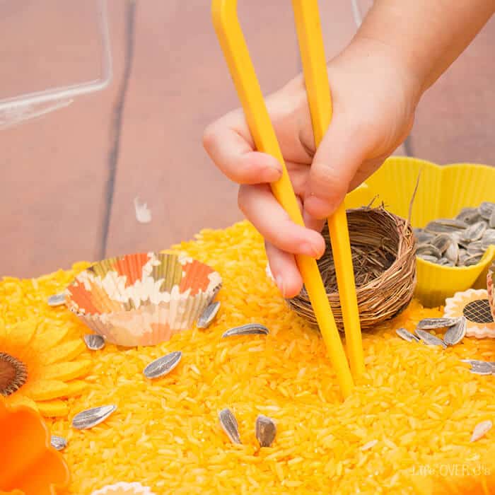
[{"label": "round brown twig bird nest behind the yellow tongs", "polygon": [[[412,299],[416,284],[414,233],[408,221],[391,214],[383,206],[348,210],[347,221],[361,330],[369,330],[401,313]],[[318,260],[318,267],[335,322],[343,331],[342,308],[327,225],[322,235],[327,249]],[[287,302],[298,315],[317,324],[305,288]]]}]

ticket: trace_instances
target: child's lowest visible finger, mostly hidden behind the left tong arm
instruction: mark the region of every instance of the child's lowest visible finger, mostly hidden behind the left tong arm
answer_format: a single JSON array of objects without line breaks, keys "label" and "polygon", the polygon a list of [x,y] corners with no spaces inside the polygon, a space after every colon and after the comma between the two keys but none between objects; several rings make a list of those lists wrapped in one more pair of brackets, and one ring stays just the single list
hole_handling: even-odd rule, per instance
[{"label": "child's lowest visible finger, mostly hidden behind the left tong arm", "polygon": [[270,270],[282,296],[284,298],[297,296],[303,287],[303,279],[294,255],[279,250],[273,244],[265,242],[264,245]]}]

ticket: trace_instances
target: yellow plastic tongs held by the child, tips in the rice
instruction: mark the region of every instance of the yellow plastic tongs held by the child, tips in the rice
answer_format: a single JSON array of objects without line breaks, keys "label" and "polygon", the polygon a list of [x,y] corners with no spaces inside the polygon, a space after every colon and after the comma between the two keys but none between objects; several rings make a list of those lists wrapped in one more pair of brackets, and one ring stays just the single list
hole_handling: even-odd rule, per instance
[{"label": "yellow plastic tongs held by the child, tips in the rice", "polygon": [[[325,49],[320,26],[317,0],[293,0],[306,92],[313,123],[315,145],[318,147],[332,120],[332,98],[328,83]],[[237,16],[237,0],[213,0],[212,16],[216,34],[231,72],[248,127],[258,151],[269,153],[282,165],[279,180],[271,184],[277,201],[291,220],[303,226],[303,216],[287,173],[279,142],[264,104],[260,83],[252,65],[248,47]],[[354,284],[349,230],[344,204],[328,219],[330,240],[337,272],[337,285],[342,305],[344,330],[349,360],[354,376],[364,371],[361,325]],[[297,255],[296,262],[303,276],[305,289],[313,305],[327,351],[337,373],[342,395],[347,397],[354,385],[344,347],[335,324],[332,308],[316,260]]]}]

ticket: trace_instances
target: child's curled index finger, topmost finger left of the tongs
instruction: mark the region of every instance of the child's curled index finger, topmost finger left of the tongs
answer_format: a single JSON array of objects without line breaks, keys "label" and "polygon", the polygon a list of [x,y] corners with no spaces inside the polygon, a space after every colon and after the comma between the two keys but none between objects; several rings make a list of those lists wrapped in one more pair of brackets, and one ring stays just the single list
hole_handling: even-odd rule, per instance
[{"label": "child's curled index finger, topmost finger left of the tongs", "polygon": [[273,156],[253,151],[243,132],[235,130],[226,120],[206,129],[203,144],[215,165],[238,184],[275,182],[281,177],[280,163]]}]

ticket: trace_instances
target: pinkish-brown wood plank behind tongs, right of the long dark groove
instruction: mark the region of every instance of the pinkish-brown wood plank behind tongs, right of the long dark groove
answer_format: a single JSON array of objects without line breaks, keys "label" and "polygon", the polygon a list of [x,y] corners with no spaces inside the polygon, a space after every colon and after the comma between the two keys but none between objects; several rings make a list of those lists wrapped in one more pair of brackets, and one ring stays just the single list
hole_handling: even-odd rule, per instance
[{"label": "pinkish-brown wood plank behind tongs, right of the long dark groove", "polygon": [[[239,17],[264,93],[300,68],[291,4],[240,1]],[[329,49],[354,25],[350,6],[331,8]],[[326,10],[325,10],[326,12]],[[342,13],[347,16],[341,23]],[[337,39],[335,39],[337,37]],[[210,18],[210,2],[141,2],[136,9],[132,76],[124,109],[107,255],[166,248],[201,228],[242,219],[237,187],[202,148],[209,122],[238,106]],[[134,197],[151,209],[138,223]]]}]

